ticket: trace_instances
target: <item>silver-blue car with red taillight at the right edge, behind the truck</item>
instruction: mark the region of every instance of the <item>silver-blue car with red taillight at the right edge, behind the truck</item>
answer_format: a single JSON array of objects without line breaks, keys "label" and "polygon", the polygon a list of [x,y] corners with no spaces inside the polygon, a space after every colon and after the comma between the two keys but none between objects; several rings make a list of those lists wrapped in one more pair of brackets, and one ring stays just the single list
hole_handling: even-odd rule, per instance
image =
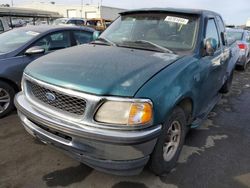
[{"label": "silver-blue car with red taillight at the right edge, behind the truck", "polygon": [[227,36],[231,43],[236,41],[240,49],[237,65],[245,70],[250,61],[250,32],[243,29],[227,28]]}]

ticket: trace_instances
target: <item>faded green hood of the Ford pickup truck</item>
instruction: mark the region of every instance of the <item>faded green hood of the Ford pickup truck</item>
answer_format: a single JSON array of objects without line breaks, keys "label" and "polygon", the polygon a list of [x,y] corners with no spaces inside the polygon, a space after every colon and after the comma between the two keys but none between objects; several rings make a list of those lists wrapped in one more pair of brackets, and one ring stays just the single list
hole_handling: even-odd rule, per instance
[{"label": "faded green hood of the Ford pickup truck", "polygon": [[43,56],[25,73],[38,80],[96,95],[132,97],[178,55],[102,45],[81,45]]}]

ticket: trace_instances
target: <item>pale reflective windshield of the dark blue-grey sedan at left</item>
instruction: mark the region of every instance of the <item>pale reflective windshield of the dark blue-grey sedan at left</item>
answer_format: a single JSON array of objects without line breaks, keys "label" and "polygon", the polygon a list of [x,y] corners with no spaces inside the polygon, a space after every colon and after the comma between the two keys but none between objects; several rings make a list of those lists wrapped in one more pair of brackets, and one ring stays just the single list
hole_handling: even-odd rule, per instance
[{"label": "pale reflective windshield of the dark blue-grey sedan at left", "polygon": [[14,29],[0,35],[0,53],[8,53],[23,46],[40,33]]}]

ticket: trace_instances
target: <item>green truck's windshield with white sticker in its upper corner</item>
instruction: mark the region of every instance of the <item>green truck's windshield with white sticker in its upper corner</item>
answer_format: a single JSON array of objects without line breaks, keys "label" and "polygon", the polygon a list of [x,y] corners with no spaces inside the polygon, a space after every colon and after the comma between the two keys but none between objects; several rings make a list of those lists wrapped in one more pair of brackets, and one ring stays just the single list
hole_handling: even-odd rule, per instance
[{"label": "green truck's windshield with white sticker in its upper corner", "polygon": [[117,46],[171,51],[192,50],[196,41],[198,16],[173,13],[137,13],[120,16],[100,38]]}]

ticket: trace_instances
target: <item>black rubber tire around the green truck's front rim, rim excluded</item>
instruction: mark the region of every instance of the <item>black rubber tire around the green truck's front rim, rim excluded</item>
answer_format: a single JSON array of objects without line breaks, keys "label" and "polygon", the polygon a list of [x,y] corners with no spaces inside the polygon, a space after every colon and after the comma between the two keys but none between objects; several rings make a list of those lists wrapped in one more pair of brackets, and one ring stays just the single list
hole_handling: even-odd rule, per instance
[{"label": "black rubber tire around the green truck's front rim, rim excluded", "polygon": [[[176,151],[173,154],[172,158],[170,158],[168,161],[166,161],[163,156],[166,139],[168,139],[168,131],[169,128],[172,127],[172,124],[174,122],[179,122],[180,124],[180,140],[179,144],[176,147]],[[150,169],[156,174],[156,175],[164,175],[166,173],[169,173],[177,164],[177,160],[179,158],[180,152],[182,150],[185,137],[187,132],[187,123],[186,123],[186,117],[184,111],[180,107],[176,107],[170,117],[168,118],[167,122],[163,125],[163,130],[161,135],[158,138],[158,141],[156,143],[155,149],[151,155],[150,160]]]}]

